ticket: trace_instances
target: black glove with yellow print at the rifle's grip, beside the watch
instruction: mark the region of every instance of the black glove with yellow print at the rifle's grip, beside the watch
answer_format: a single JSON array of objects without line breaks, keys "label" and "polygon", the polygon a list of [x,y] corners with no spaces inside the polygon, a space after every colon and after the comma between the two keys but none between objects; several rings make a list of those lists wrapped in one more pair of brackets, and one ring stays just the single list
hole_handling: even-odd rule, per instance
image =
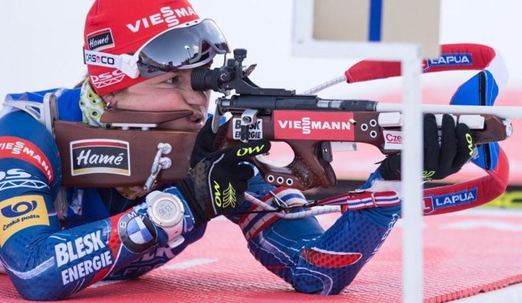
[{"label": "black glove with yellow print at the rifle's grip, beside the watch", "polygon": [[177,184],[196,219],[196,226],[233,212],[244,203],[247,182],[254,171],[250,165],[238,163],[267,153],[271,146],[270,141],[258,140],[212,153],[215,136],[211,122],[207,121],[196,137],[189,175]]}]

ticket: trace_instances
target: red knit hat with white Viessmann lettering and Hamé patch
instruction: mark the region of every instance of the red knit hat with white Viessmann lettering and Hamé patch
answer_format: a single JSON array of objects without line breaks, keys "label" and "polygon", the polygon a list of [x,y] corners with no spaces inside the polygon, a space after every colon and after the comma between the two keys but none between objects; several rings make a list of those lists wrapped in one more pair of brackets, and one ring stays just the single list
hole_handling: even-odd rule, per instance
[{"label": "red knit hat with white Viessmann lettering and Ham\u00e9 patch", "polygon": [[[199,17],[187,0],[95,0],[86,17],[84,53],[132,55],[161,33],[197,20]],[[84,60],[88,56],[85,54]],[[95,57],[94,61],[111,60],[110,57]],[[86,63],[90,83],[99,95],[119,91],[146,79],[141,75],[133,79],[108,65]]]}]

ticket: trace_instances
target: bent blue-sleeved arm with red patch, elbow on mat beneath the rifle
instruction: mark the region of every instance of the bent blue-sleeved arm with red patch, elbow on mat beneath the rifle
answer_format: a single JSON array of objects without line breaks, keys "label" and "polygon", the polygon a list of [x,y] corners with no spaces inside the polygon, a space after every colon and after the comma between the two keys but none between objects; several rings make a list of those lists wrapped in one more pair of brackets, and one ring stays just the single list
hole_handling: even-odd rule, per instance
[{"label": "bent blue-sleeved arm with red patch, elbow on mat beneath the rifle", "polygon": [[[253,189],[258,187],[253,186]],[[266,192],[252,192],[257,196]],[[287,204],[305,202],[294,189],[274,189]],[[270,203],[271,194],[260,199]],[[246,211],[260,210],[244,205]],[[273,213],[230,217],[255,258],[299,292],[340,293],[378,251],[400,215],[400,205],[345,212],[327,231],[313,217],[278,219]]]}]

